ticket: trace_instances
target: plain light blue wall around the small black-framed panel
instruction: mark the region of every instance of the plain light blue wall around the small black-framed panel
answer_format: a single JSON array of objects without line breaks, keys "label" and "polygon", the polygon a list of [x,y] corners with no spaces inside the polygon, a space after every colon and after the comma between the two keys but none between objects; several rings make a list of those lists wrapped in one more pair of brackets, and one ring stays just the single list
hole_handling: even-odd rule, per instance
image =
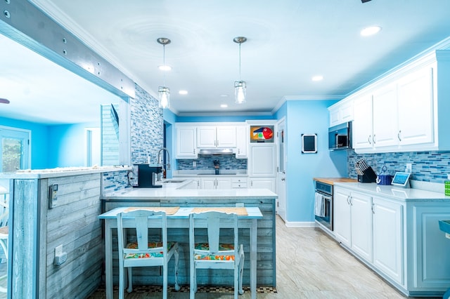
[{"label": "plain light blue wall around the small black-framed panel", "polygon": [[[347,153],[328,150],[328,109],[335,101],[288,101],[285,148],[286,218],[289,222],[314,222],[314,177],[347,177]],[[285,110],[285,112],[284,112]],[[302,133],[317,134],[317,153],[302,154]]]}]

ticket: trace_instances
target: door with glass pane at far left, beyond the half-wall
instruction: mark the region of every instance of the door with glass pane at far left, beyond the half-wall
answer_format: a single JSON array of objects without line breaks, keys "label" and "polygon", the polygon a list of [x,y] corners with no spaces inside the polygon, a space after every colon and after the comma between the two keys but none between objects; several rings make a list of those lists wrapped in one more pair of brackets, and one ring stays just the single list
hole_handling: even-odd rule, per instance
[{"label": "door with glass pane at far left, beyond the half-wall", "polygon": [[30,168],[29,130],[0,126],[0,172]]}]

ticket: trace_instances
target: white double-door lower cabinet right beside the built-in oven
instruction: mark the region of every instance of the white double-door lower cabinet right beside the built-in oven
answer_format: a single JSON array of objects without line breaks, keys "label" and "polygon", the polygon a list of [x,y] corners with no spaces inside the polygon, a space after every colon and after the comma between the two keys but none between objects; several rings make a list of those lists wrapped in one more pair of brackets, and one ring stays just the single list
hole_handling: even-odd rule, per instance
[{"label": "white double-door lower cabinet right beside the built-in oven", "polygon": [[371,262],[372,197],[335,187],[333,204],[336,239]]}]

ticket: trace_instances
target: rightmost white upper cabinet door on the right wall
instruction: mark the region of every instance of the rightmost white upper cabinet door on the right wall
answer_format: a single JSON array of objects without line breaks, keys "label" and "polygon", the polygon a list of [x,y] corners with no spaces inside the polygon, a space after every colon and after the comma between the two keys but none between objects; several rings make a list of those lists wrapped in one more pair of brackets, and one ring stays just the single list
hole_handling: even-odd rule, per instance
[{"label": "rightmost white upper cabinet door on the right wall", "polygon": [[400,145],[434,142],[433,68],[424,67],[398,82]]}]

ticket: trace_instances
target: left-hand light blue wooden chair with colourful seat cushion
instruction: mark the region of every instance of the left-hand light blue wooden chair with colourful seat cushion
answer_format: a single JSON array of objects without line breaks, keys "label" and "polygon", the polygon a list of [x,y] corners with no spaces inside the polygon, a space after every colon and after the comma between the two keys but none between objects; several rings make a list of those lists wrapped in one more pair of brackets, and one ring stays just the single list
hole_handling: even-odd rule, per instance
[{"label": "left-hand light blue wooden chair with colourful seat cushion", "polygon": [[[151,220],[152,225],[148,225]],[[124,223],[127,222],[127,225]],[[154,223],[154,225],[153,225]],[[124,229],[126,227],[126,229]],[[131,229],[129,228],[131,227]],[[159,228],[155,240],[149,235],[149,228]],[[136,242],[127,243],[127,230],[136,230]],[[133,291],[132,267],[162,266],[162,297],[167,298],[167,263],[175,256],[175,290],[178,284],[178,243],[167,241],[167,218],[164,211],[134,210],[117,215],[117,236],[119,244],[119,298],[124,298],[124,268],[128,268],[128,293]],[[153,240],[152,240],[153,239]]]}]

